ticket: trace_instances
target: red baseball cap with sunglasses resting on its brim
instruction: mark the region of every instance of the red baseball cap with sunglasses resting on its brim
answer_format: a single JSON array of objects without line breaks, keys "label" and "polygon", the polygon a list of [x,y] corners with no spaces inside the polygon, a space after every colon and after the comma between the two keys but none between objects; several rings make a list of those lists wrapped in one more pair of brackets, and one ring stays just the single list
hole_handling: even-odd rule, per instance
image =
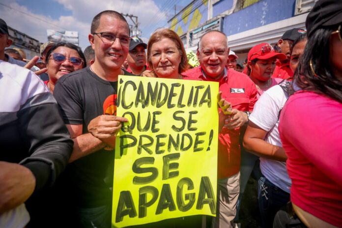
[{"label": "red baseball cap with sunglasses resting on its brim", "polygon": [[253,59],[269,59],[276,57],[279,60],[285,60],[287,57],[283,53],[278,53],[268,43],[261,43],[254,46],[248,53],[248,61]]}]

